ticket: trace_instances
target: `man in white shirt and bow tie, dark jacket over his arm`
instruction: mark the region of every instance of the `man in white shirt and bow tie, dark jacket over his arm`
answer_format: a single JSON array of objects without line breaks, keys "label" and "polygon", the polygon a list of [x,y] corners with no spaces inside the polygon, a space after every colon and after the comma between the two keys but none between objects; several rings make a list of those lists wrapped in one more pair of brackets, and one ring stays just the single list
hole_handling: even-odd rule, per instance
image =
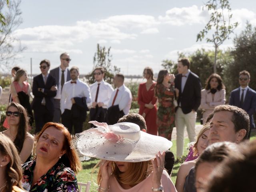
[{"label": "man in white shirt and bow tie, dark jacket over his arm", "polygon": [[72,133],[82,132],[83,122],[86,120],[87,103],[91,102],[90,88],[88,84],[78,78],[79,69],[70,69],[71,80],[66,82],[62,88],[60,99],[60,110],[62,113],[62,124]]}]

